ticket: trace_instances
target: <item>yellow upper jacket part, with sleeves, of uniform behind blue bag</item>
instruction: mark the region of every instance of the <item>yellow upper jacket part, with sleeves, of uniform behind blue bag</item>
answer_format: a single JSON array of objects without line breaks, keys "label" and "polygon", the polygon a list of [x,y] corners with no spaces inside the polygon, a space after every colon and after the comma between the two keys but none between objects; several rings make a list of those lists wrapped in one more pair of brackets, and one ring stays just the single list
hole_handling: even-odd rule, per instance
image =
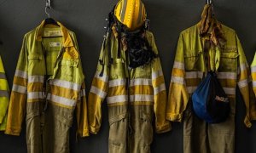
[{"label": "yellow upper jacket part, with sleeves, of uniform behind blue bag", "polygon": [[[207,71],[207,60],[204,59],[204,54],[207,53],[203,52],[204,41],[201,39],[199,26],[200,24],[197,24],[183,31],[178,39],[166,112],[167,119],[174,122],[183,120],[183,112],[188,106],[189,99]],[[209,62],[216,66],[218,80],[230,99],[231,114],[235,114],[238,85],[247,110],[244,123],[251,127],[250,121],[256,119],[256,110],[253,90],[250,88],[247,59],[236,31],[224,25],[222,28],[227,40],[226,45],[222,49],[210,49]]]}]

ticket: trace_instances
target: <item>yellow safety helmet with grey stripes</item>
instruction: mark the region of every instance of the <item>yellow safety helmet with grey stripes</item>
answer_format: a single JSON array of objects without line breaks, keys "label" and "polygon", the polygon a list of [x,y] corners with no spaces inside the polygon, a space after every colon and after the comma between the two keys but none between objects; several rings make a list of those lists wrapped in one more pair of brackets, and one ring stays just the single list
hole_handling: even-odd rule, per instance
[{"label": "yellow safety helmet with grey stripes", "polygon": [[114,16],[126,26],[128,31],[137,30],[143,26],[147,14],[141,0],[120,0],[114,8]]}]

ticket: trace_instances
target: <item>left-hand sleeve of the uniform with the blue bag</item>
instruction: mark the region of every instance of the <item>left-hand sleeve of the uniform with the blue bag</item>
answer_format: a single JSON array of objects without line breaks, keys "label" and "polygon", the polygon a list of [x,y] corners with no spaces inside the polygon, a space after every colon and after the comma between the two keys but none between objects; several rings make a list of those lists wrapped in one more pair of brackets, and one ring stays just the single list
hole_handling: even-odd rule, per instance
[{"label": "left-hand sleeve of the uniform with the blue bag", "polygon": [[185,111],[189,94],[185,84],[185,67],[183,56],[183,36],[180,35],[177,42],[177,51],[172,68],[172,79],[169,88],[166,118],[173,122],[181,122]]}]

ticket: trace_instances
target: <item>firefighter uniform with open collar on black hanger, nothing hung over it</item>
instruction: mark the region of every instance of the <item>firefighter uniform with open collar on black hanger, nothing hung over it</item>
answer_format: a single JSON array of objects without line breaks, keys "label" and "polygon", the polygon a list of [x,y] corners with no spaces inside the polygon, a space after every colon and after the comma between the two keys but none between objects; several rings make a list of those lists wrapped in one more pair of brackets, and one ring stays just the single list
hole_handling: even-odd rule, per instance
[{"label": "firefighter uniform with open collar on black hanger, nothing hung over it", "polygon": [[88,136],[84,73],[72,31],[45,25],[26,33],[9,102],[5,133],[19,135],[26,120],[29,153],[69,152],[77,107],[78,134]]}]

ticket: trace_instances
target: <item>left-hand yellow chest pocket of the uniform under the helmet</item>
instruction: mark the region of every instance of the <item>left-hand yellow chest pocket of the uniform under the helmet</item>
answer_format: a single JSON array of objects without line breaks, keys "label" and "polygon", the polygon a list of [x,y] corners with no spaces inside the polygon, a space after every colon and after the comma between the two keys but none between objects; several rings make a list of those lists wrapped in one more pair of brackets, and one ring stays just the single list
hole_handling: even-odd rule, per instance
[{"label": "left-hand yellow chest pocket of the uniform under the helmet", "polygon": [[114,59],[110,69],[110,78],[118,79],[125,77],[125,61],[123,59]]}]

